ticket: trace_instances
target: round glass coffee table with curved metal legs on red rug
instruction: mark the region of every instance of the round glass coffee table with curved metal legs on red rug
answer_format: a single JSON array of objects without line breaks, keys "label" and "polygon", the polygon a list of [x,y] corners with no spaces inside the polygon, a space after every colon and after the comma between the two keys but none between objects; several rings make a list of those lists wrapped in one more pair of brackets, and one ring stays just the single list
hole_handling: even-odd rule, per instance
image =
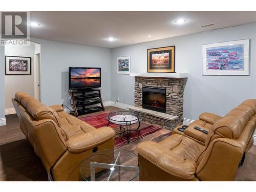
[{"label": "round glass coffee table with curved metal legs on red rug", "polygon": [[[128,143],[130,142],[130,136],[132,131],[136,131],[137,133],[140,133],[140,130],[139,130],[140,119],[135,116],[134,112],[131,112],[131,111],[112,112],[106,115],[106,119],[108,119],[109,121],[106,126],[109,126],[110,123],[119,125],[120,131],[116,132],[116,134],[122,134],[124,137],[126,137]],[[131,126],[133,124],[137,124],[135,126],[136,129],[131,129]]]}]

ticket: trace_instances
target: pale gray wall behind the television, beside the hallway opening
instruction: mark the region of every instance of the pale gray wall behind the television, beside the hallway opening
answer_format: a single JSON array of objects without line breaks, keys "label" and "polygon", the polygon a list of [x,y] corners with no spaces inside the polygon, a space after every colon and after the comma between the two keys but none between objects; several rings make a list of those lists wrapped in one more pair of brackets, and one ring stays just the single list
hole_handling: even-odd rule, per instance
[{"label": "pale gray wall behind the television, beside the hallway opening", "polygon": [[111,98],[110,49],[32,39],[41,45],[41,101],[46,105],[69,103],[69,67],[100,67],[104,101]]}]

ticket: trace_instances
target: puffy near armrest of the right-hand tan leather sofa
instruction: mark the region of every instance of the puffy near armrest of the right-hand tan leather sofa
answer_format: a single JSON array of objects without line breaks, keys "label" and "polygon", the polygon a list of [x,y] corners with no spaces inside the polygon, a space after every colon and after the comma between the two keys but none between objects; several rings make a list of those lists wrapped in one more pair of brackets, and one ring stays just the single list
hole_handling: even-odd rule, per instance
[{"label": "puffy near armrest of the right-hand tan leather sofa", "polygon": [[[195,178],[195,173],[198,164],[190,159],[184,159],[182,156],[170,151],[163,145],[146,141],[138,144],[136,150],[139,156],[147,159],[160,169],[164,170],[174,177],[181,180],[191,180]],[[147,165],[142,165],[143,168],[150,168]]]}]

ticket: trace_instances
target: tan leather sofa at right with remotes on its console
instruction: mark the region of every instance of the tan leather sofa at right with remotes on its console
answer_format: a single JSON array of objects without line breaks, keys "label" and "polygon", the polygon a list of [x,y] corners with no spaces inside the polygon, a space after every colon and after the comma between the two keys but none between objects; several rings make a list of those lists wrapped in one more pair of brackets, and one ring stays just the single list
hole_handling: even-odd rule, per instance
[{"label": "tan leather sofa at right with remotes on its console", "polygon": [[159,143],[140,143],[140,181],[232,181],[253,144],[255,125],[256,100],[249,99],[224,117],[201,114],[187,132],[176,128]]}]

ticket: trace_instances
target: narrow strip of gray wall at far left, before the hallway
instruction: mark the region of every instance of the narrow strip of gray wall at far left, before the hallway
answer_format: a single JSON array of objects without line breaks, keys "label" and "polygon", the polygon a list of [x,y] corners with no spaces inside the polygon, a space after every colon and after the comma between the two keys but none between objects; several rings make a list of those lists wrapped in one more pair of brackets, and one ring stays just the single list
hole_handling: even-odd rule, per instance
[{"label": "narrow strip of gray wall at far left, before the hallway", "polygon": [[0,119],[5,118],[5,47],[0,46]]}]

